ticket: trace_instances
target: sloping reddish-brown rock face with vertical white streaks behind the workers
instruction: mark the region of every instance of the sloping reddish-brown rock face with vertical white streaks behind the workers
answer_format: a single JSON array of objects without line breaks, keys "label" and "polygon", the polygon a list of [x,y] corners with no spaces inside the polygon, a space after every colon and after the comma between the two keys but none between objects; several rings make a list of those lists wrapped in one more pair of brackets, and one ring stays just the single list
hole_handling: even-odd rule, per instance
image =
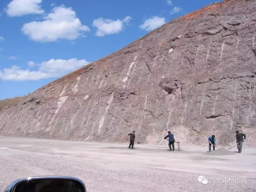
[{"label": "sloping reddish-brown rock face with vertical white streaks behind the workers", "polygon": [[256,137],[256,2],[226,0],[170,21],[122,50],[1,110],[4,136],[160,143]]}]

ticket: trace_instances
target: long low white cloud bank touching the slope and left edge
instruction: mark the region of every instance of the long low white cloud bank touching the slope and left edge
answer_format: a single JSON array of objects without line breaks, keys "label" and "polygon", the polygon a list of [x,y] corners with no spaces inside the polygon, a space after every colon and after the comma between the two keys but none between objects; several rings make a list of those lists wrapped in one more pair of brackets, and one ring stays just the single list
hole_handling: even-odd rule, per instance
[{"label": "long low white cloud bank touching the slope and left edge", "polygon": [[89,62],[84,59],[51,59],[38,64],[38,70],[22,70],[20,66],[4,68],[4,70],[0,70],[0,79],[22,81],[61,77],[87,64],[89,64]]}]

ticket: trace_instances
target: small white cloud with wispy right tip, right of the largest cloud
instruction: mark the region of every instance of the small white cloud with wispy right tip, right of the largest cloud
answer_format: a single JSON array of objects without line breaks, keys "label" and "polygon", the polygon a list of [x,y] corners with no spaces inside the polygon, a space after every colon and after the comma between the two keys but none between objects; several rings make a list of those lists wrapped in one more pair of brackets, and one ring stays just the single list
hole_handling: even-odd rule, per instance
[{"label": "small white cloud with wispy right tip, right of the largest cloud", "polygon": [[125,24],[129,24],[132,18],[130,16],[126,16],[122,20],[111,20],[98,18],[93,20],[92,25],[97,28],[96,36],[103,37],[109,34],[116,34],[121,32],[124,29]]}]

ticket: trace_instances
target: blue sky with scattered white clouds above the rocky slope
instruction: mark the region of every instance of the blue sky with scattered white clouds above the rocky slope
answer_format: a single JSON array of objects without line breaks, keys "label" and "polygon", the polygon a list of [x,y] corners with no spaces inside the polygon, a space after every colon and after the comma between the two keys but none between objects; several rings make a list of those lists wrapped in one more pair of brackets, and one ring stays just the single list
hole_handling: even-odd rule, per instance
[{"label": "blue sky with scattered white clouds above the rocky slope", "polygon": [[23,96],[216,0],[0,0],[0,99]]}]

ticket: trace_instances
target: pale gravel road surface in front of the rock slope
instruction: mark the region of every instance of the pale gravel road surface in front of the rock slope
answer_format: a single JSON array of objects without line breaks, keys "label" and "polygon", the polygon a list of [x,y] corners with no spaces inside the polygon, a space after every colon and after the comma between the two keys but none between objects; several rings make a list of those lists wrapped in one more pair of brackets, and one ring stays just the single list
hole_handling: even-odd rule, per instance
[{"label": "pale gravel road surface in front of the rock slope", "polygon": [[[81,178],[89,192],[255,191],[256,149],[210,156],[205,155],[207,145],[181,144],[181,150],[174,152],[167,150],[167,143],[136,144],[135,148],[0,137],[0,191],[12,180],[40,175]],[[198,182],[200,175],[208,184]],[[229,179],[234,183],[225,183]]]}]

